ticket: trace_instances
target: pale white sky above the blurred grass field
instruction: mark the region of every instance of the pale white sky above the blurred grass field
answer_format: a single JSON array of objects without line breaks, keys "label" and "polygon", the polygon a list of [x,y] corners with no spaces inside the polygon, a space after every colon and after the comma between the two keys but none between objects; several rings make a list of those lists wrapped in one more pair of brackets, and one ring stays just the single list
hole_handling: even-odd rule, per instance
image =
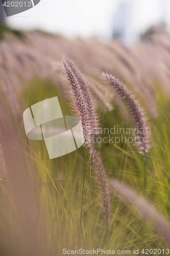
[{"label": "pale white sky above the blurred grass field", "polygon": [[42,29],[69,37],[111,38],[119,2],[132,3],[129,24],[135,33],[158,24],[162,17],[170,27],[168,0],[41,0],[34,8],[8,17],[7,23],[14,28]]}]

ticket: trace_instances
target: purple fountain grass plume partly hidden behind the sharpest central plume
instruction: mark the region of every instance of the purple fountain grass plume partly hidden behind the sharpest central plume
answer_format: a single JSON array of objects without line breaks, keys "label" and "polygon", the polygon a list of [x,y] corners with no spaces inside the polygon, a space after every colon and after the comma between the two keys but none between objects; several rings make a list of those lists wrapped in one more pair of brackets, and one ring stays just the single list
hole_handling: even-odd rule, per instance
[{"label": "purple fountain grass plume partly hidden behind the sharpest central plume", "polygon": [[92,133],[96,134],[96,132],[98,130],[98,120],[97,120],[97,117],[95,115],[93,103],[91,101],[88,88],[86,86],[87,82],[83,78],[83,75],[79,71],[78,67],[75,65],[74,61],[72,61],[68,57],[65,57],[65,61],[66,61],[67,65],[68,65],[68,67],[70,68],[72,74],[78,80],[81,92],[84,95],[84,99],[86,101],[86,107],[87,107],[89,115],[90,115],[90,121],[91,121],[91,126],[92,126]]}]

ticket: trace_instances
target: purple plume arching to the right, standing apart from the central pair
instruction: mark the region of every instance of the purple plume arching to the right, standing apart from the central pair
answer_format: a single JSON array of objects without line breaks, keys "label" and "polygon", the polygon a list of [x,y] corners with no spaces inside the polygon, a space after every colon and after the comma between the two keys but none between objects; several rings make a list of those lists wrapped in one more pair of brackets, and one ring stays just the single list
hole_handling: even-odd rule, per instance
[{"label": "purple plume arching to the right, standing apart from the central pair", "polygon": [[128,109],[129,114],[132,117],[134,124],[137,128],[136,130],[139,131],[136,136],[136,139],[138,140],[136,144],[138,145],[139,153],[145,156],[150,148],[149,134],[147,130],[148,126],[146,124],[144,114],[138,104],[138,101],[131,94],[125,84],[120,82],[117,78],[107,73],[103,73],[102,75],[104,76],[108,84],[117,93],[119,98],[122,99],[122,101],[125,103],[125,106]]}]

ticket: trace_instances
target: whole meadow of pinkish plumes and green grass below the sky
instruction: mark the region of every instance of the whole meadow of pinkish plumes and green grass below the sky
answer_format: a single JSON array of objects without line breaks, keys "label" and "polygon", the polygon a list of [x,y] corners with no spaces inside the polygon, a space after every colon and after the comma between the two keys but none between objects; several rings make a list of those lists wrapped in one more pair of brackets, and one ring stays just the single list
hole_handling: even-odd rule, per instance
[{"label": "whole meadow of pinkish plumes and green grass below the sky", "polygon": [[[170,35],[162,28],[132,48],[118,39],[0,30],[1,256],[81,248],[169,254],[169,68]],[[27,138],[22,115],[55,96],[63,115],[85,122],[85,140],[91,108],[101,133],[50,160],[43,140]],[[134,134],[123,129],[141,123],[150,128],[145,144],[128,142]],[[122,130],[113,134],[114,127]]]}]

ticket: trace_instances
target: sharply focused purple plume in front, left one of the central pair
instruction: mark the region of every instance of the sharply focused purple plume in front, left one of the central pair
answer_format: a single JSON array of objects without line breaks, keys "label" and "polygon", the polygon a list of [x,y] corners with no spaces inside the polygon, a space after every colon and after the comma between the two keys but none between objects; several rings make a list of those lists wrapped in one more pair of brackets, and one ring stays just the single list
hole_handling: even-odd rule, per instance
[{"label": "sharply focused purple plume in front, left one of the central pair", "polygon": [[74,107],[75,107],[74,109],[82,123],[83,135],[84,135],[84,147],[86,150],[87,147],[89,147],[92,142],[92,126],[91,126],[89,110],[87,108],[87,103],[86,103],[84,94],[82,93],[82,90],[80,87],[79,78],[74,75],[71,68],[68,67],[64,61],[63,61],[63,64],[64,64],[65,73],[71,88],[72,96],[74,99]]}]

